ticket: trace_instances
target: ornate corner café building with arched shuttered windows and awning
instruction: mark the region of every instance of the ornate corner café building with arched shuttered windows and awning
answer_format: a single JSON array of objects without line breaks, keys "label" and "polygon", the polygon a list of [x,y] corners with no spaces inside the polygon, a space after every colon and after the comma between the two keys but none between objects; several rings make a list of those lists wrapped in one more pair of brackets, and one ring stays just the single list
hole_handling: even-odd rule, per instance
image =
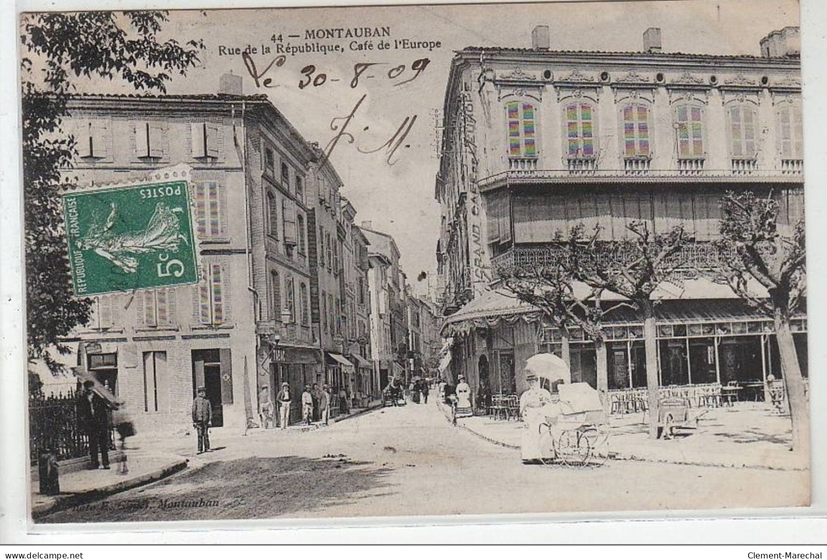
[{"label": "ornate corner caf\u00e9 building with arched shuttered windows and awning", "polygon": [[[598,373],[582,333],[562,339],[492,286],[499,268],[553,263],[558,232],[583,224],[620,239],[631,221],[692,236],[687,278],[663,286],[656,307],[661,384],[780,377],[772,321],[691,271],[715,266],[726,192],[772,192],[783,233],[804,216],[798,29],[756,41],[760,56],[666,53],[657,28],[640,52],[555,51],[548,37],[538,26],[531,49],[468,47],[452,61],[436,180],[445,377],[464,373],[479,395],[519,393],[526,358],[567,344],[573,381],[645,387],[634,316],[608,318]],[[805,317],[793,329],[805,372]]]}]

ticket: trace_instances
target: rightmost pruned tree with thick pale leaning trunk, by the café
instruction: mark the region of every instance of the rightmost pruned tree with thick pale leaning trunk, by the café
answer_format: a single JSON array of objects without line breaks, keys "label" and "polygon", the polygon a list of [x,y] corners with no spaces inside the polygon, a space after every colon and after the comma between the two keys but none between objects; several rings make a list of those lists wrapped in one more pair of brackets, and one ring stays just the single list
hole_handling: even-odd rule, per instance
[{"label": "rightmost pruned tree with thick pale leaning trunk, by the caf\u00e9", "polygon": [[[805,230],[801,220],[791,225],[787,235],[782,233],[779,210],[772,192],[767,197],[754,192],[726,194],[716,242],[721,255],[719,280],[772,317],[790,406],[792,444],[802,449],[810,443],[810,414],[790,319],[801,310],[806,295]],[[769,297],[758,297],[749,289],[752,279],[767,289]]]}]

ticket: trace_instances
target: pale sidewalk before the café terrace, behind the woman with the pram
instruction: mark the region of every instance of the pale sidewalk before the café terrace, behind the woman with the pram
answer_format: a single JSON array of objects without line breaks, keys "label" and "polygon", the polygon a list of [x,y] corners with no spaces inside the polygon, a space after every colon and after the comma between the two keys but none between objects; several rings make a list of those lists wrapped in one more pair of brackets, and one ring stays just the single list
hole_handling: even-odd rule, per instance
[{"label": "pale sidewalk before the caf\u00e9 terrace, behind the woman with the pram", "polygon": [[[450,418],[450,409],[440,406]],[[525,429],[523,422],[491,420],[486,416],[461,418],[457,426],[491,443],[514,449],[519,449]],[[698,429],[677,430],[675,439],[649,439],[648,425],[643,423],[640,413],[611,416],[609,433],[611,451],[619,460],[784,471],[810,468],[809,454],[789,450],[789,416],[773,413],[762,402],[712,408],[700,417]]]}]

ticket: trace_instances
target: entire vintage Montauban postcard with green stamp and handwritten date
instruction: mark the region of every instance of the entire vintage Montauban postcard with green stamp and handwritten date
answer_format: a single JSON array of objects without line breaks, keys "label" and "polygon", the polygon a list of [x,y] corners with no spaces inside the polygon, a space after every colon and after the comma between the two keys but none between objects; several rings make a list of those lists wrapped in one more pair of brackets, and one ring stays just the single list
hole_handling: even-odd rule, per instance
[{"label": "entire vintage Montauban postcard with green stamp and handwritten date", "polygon": [[810,505],[800,17],[23,13],[32,522]]}]

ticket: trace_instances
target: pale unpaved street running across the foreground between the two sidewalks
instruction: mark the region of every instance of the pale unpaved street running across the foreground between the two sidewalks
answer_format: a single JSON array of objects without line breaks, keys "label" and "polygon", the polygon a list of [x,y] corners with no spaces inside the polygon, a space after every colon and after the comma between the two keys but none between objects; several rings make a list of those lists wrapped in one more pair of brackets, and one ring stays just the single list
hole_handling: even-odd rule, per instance
[{"label": "pale unpaved street running across the foreground between the two sidewalks", "polygon": [[[452,427],[433,401],[308,432],[257,432],[173,477],[39,523],[772,507],[807,472],[610,461],[525,466],[519,451]],[[194,439],[190,442],[194,445]]]}]

